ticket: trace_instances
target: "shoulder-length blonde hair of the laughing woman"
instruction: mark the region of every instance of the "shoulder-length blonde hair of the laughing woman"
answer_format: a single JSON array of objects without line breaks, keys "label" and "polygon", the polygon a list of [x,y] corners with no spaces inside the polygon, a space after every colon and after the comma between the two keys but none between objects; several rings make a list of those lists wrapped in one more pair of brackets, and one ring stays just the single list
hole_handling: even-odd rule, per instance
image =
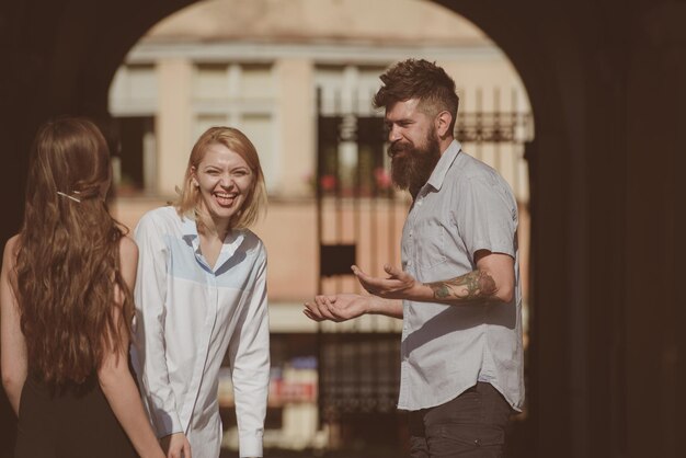
[{"label": "shoulder-length blonde hair of the laughing woman", "polygon": [[201,205],[201,192],[193,185],[193,170],[197,170],[205,158],[205,153],[213,145],[224,145],[229,150],[239,154],[248,163],[254,180],[249,190],[242,207],[231,218],[230,227],[243,229],[254,224],[266,207],[266,188],[264,173],[260,165],[260,157],[252,141],[243,133],[233,127],[210,127],[197,139],[183,180],[179,198],[173,203],[180,216],[195,219],[198,230],[211,227],[214,224],[207,211],[203,211]]}]

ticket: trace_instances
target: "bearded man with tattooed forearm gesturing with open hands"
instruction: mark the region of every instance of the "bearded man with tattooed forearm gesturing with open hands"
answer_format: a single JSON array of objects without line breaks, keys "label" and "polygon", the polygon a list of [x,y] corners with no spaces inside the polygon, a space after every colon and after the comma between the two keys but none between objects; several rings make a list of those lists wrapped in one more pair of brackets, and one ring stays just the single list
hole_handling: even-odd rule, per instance
[{"label": "bearded man with tattooed forearm gesturing with open hands", "polygon": [[459,100],[444,69],[409,59],[380,79],[391,178],[413,198],[402,268],[378,278],[353,266],[369,296],[317,296],[304,312],[403,320],[398,408],[410,411],[413,458],[502,457],[524,402],[517,204],[454,138]]}]

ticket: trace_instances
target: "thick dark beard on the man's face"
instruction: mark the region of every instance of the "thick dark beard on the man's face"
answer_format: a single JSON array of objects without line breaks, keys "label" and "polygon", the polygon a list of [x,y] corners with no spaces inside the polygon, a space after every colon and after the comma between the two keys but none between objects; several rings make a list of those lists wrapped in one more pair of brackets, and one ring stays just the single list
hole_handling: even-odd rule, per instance
[{"label": "thick dark beard on the man's face", "polygon": [[431,130],[424,146],[410,142],[395,142],[388,148],[391,158],[391,180],[399,190],[409,190],[416,196],[426,184],[441,159],[441,146],[436,133]]}]

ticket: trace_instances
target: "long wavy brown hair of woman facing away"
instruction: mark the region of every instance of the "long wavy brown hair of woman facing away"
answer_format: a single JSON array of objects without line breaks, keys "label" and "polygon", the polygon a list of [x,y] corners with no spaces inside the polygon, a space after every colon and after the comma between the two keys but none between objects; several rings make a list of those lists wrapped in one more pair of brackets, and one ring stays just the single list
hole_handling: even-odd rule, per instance
[{"label": "long wavy brown hair of woman facing away", "polygon": [[[85,118],[44,124],[32,146],[14,285],[30,369],[81,383],[130,335],[132,293],[119,272],[124,231],[105,204],[107,144]],[[61,194],[60,194],[61,193]],[[125,323],[115,322],[115,291]],[[114,348],[114,347],[116,348]]]}]

